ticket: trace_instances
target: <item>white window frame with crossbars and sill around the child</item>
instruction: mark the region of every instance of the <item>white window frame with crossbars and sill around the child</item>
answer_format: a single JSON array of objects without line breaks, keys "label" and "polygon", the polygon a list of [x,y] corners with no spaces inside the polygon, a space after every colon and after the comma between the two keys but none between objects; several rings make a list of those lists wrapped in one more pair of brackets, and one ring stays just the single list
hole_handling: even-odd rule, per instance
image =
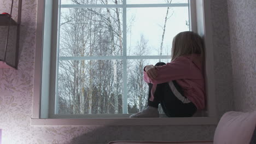
[{"label": "white window frame with crossbars and sill around the child", "polygon": [[[215,105],[215,95],[214,95],[214,73],[213,73],[213,46],[212,46],[212,25],[211,25],[211,10],[210,1],[203,0],[190,0],[189,1],[189,17],[190,17],[190,29],[194,32],[199,33],[205,39],[206,46],[206,93],[207,93],[207,113],[200,113],[199,115],[207,115],[207,117],[188,117],[188,118],[127,118],[131,114],[127,113],[127,109],[123,110],[124,114],[97,114],[97,115],[55,115],[57,107],[55,105],[55,98],[46,97],[42,98],[44,93],[55,93],[55,82],[56,77],[50,74],[56,73],[56,64],[50,61],[51,57],[56,58],[57,49],[55,50],[44,50],[44,47],[56,47],[59,43],[57,35],[57,23],[58,19],[53,17],[53,21],[44,19],[44,17],[57,16],[60,14],[60,8],[53,8],[53,5],[58,5],[57,1],[51,1],[49,3],[47,0],[38,0],[38,13],[37,13],[37,38],[36,38],[36,61],[34,70],[34,95],[33,95],[33,115],[32,115],[32,125],[187,125],[187,124],[217,124],[216,115],[216,105]],[[123,1],[126,4],[126,0]],[[47,5],[47,7],[44,7]],[[154,7],[173,7],[184,6],[184,4],[154,4]],[[130,7],[152,7],[153,4],[132,4],[127,7],[120,7],[120,5],[90,5],[90,8],[98,7],[118,7],[123,8],[123,38],[126,37],[126,8]],[[60,7],[60,6],[58,6]],[[76,7],[85,8],[88,5],[61,5],[62,8]],[[48,13],[44,14],[47,10]],[[43,23],[47,23],[49,27],[45,27]],[[44,39],[44,34],[49,35],[49,32],[53,35],[52,38]],[[50,35],[51,35],[50,34]],[[55,34],[55,35],[54,35]],[[44,41],[43,41],[44,39]],[[50,41],[50,39],[53,39]],[[123,59],[123,83],[124,87],[127,87],[127,72],[126,72],[126,59],[159,59],[159,58],[170,58],[170,56],[126,56],[126,41],[124,41],[124,55],[123,56],[102,56],[102,57],[86,57],[86,59]],[[43,55],[44,54],[44,55]],[[62,57],[62,59],[85,59],[84,57]],[[59,62],[59,59],[56,59]],[[48,70],[42,71],[42,68],[49,68]],[[43,80],[42,76],[49,76],[48,79]],[[45,88],[48,87],[48,88]],[[46,91],[42,92],[42,89]],[[41,92],[43,93],[41,95]],[[127,98],[127,88],[123,89],[124,96]],[[126,95],[125,95],[126,94]],[[51,104],[49,104],[49,101]],[[127,105],[127,101],[123,102],[123,105]],[[50,109],[50,110],[49,110]],[[109,118],[115,116],[115,118]],[[69,117],[69,118],[67,118]],[[92,118],[93,117],[93,118]],[[119,118],[116,118],[119,117]]]}]

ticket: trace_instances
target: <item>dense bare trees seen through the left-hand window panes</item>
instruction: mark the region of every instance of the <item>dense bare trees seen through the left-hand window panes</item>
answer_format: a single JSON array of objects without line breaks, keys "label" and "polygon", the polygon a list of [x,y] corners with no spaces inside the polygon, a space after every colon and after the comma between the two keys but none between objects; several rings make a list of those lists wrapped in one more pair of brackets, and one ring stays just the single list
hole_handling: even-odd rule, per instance
[{"label": "dense bare trees seen through the left-hand window panes", "polygon": [[[72,2],[95,3],[83,0]],[[115,0],[114,3],[120,2]],[[92,57],[123,53],[120,15],[118,8],[70,9],[68,14],[62,16],[60,55]],[[59,97],[62,107],[66,105],[70,113],[109,113],[112,109],[118,113],[122,97],[119,88],[122,82],[121,64],[117,60],[60,61]]]}]

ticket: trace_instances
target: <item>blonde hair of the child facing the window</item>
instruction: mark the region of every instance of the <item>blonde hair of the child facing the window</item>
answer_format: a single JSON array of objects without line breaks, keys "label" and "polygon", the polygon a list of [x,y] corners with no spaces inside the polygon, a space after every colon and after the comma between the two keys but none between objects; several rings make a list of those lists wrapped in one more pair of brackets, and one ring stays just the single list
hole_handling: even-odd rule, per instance
[{"label": "blonde hair of the child facing the window", "polygon": [[199,34],[190,31],[178,33],[172,41],[172,61],[179,56],[193,53],[201,55],[202,60],[204,59],[203,39]]}]

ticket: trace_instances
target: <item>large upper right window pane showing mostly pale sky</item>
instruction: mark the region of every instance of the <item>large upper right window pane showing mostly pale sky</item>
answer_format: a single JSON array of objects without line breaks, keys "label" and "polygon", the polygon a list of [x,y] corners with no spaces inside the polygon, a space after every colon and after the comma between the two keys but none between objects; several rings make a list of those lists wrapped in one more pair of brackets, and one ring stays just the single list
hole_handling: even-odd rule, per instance
[{"label": "large upper right window pane showing mostly pale sky", "polygon": [[183,31],[189,31],[188,7],[127,8],[127,55],[171,55],[173,37]]}]

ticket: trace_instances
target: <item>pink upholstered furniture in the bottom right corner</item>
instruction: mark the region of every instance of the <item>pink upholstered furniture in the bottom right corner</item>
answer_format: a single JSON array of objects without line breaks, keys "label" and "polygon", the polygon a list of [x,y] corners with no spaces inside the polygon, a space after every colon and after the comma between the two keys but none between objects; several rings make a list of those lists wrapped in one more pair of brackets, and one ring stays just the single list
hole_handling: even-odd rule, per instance
[{"label": "pink upholstered furniture in the bottom right corner", "polygon": [[220,119],[213,141],[112,141],[108,144],[256,144],[256,111],[226,112]]}]

